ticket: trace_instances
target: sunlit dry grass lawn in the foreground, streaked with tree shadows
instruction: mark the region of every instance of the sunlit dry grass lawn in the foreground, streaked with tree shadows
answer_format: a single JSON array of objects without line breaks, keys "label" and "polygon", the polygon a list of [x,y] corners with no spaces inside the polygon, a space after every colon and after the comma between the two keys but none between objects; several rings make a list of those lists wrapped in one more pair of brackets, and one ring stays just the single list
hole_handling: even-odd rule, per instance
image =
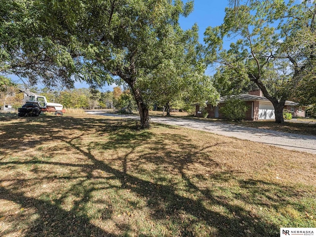
[{"label": "sunlit dry grass lawn in the foreground, streaked with tree shadows", "polygon": [[138,125],[0,114],[0,236],[275,237],[316,227],[314,155]]}]

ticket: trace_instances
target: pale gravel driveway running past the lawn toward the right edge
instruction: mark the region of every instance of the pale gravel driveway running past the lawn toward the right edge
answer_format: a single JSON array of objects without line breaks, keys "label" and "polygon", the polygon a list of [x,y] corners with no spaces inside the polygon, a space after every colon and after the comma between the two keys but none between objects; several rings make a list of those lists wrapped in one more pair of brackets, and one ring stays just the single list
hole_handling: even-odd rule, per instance
[{"label": "pale gravel driveway running past the lawn toward the right edge", "polygon": [[[138,116],[113,115],[106,114],[101,111],[87,111],[87,113],[119,118],[139,119]],[[250,128],[221,122],[208,122],[195,119],[151,117],[150,120],[152,122],[183,126],[223,136],[265,143],[284,149],[316,154],[316,136],[291,134],[268,129]]]}]

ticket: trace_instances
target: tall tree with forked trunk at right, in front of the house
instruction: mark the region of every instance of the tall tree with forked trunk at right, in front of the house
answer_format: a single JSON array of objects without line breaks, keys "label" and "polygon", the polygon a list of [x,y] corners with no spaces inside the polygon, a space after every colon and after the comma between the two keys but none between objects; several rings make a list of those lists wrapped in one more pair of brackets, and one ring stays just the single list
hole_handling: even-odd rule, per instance
[{"label": "tall tree with forked trunk at right, in front of the house", "polygon": [[[310,0],[237,4],[226,9],[221,26],[206,30],[206,59],[219,63],[226,79],[255,83],[274,105],[276,122],[282,123],[285,100],[315,66],[315,16],[316,3]],[[237,39],[229,50],[223,49],[227,38]]]}]

